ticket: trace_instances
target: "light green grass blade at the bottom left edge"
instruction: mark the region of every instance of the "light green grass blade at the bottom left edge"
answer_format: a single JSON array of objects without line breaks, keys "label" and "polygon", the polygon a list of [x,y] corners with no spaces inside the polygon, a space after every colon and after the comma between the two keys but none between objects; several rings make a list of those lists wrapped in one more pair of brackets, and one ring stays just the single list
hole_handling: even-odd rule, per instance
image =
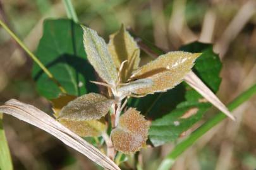
[{"label": "light green grass blade at the bottom left edge", "polygon": [[0,113],[0,169],[11,170],[13,164],[3,128],[3,114]]}]

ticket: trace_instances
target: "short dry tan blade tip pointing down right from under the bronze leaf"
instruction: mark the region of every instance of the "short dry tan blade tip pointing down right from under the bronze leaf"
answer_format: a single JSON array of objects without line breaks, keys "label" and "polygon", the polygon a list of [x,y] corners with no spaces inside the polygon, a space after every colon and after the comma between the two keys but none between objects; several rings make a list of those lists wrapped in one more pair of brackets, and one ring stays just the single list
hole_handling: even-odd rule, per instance
[{"label": "short dry tan blade tip pointing down right from under the bronze leaf", "polygon": [[207,99],[210,103],[212,103],[212,105],[216,106],[216,108],[221,110],[223,113],[225,113],[227,116],[229,116],[229,118],[231,118],[232,120],[235,120],[235,117],[233,115],[231,115],[228,108],[226,108],[226,106],[219,100],[219,98],[217,98],[217,96],[214,93],[212,93],[212,91],[210,91],[209,88],[207,88],[207,86],[204,84],[204,82],[202,82],[201,79],[199,77],[197,77],[197,75],[195,75],[195,73],[193,73],[192,71],[189,72],[185,76],[185,81],[193,89],[198,91],[198,93],[200,93],[202,96],[204,96],[205,99]]}]

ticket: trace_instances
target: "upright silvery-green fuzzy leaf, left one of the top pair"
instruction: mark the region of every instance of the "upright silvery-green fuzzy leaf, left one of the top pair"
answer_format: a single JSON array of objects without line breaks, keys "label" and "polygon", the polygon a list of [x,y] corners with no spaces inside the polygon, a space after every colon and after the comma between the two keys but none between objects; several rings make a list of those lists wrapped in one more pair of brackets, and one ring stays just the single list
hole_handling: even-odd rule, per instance
[{"label": "upright silvery-green fuzzy leaf, left one of the top pair", "polygon": [[103,38],[97,35],[97,32],[82,26],[83,28],[83,45],[87,53],[87,59],[94,67],[99,76],[109,84],[114,86],[118,72],[114,65],[107,44]]}]

